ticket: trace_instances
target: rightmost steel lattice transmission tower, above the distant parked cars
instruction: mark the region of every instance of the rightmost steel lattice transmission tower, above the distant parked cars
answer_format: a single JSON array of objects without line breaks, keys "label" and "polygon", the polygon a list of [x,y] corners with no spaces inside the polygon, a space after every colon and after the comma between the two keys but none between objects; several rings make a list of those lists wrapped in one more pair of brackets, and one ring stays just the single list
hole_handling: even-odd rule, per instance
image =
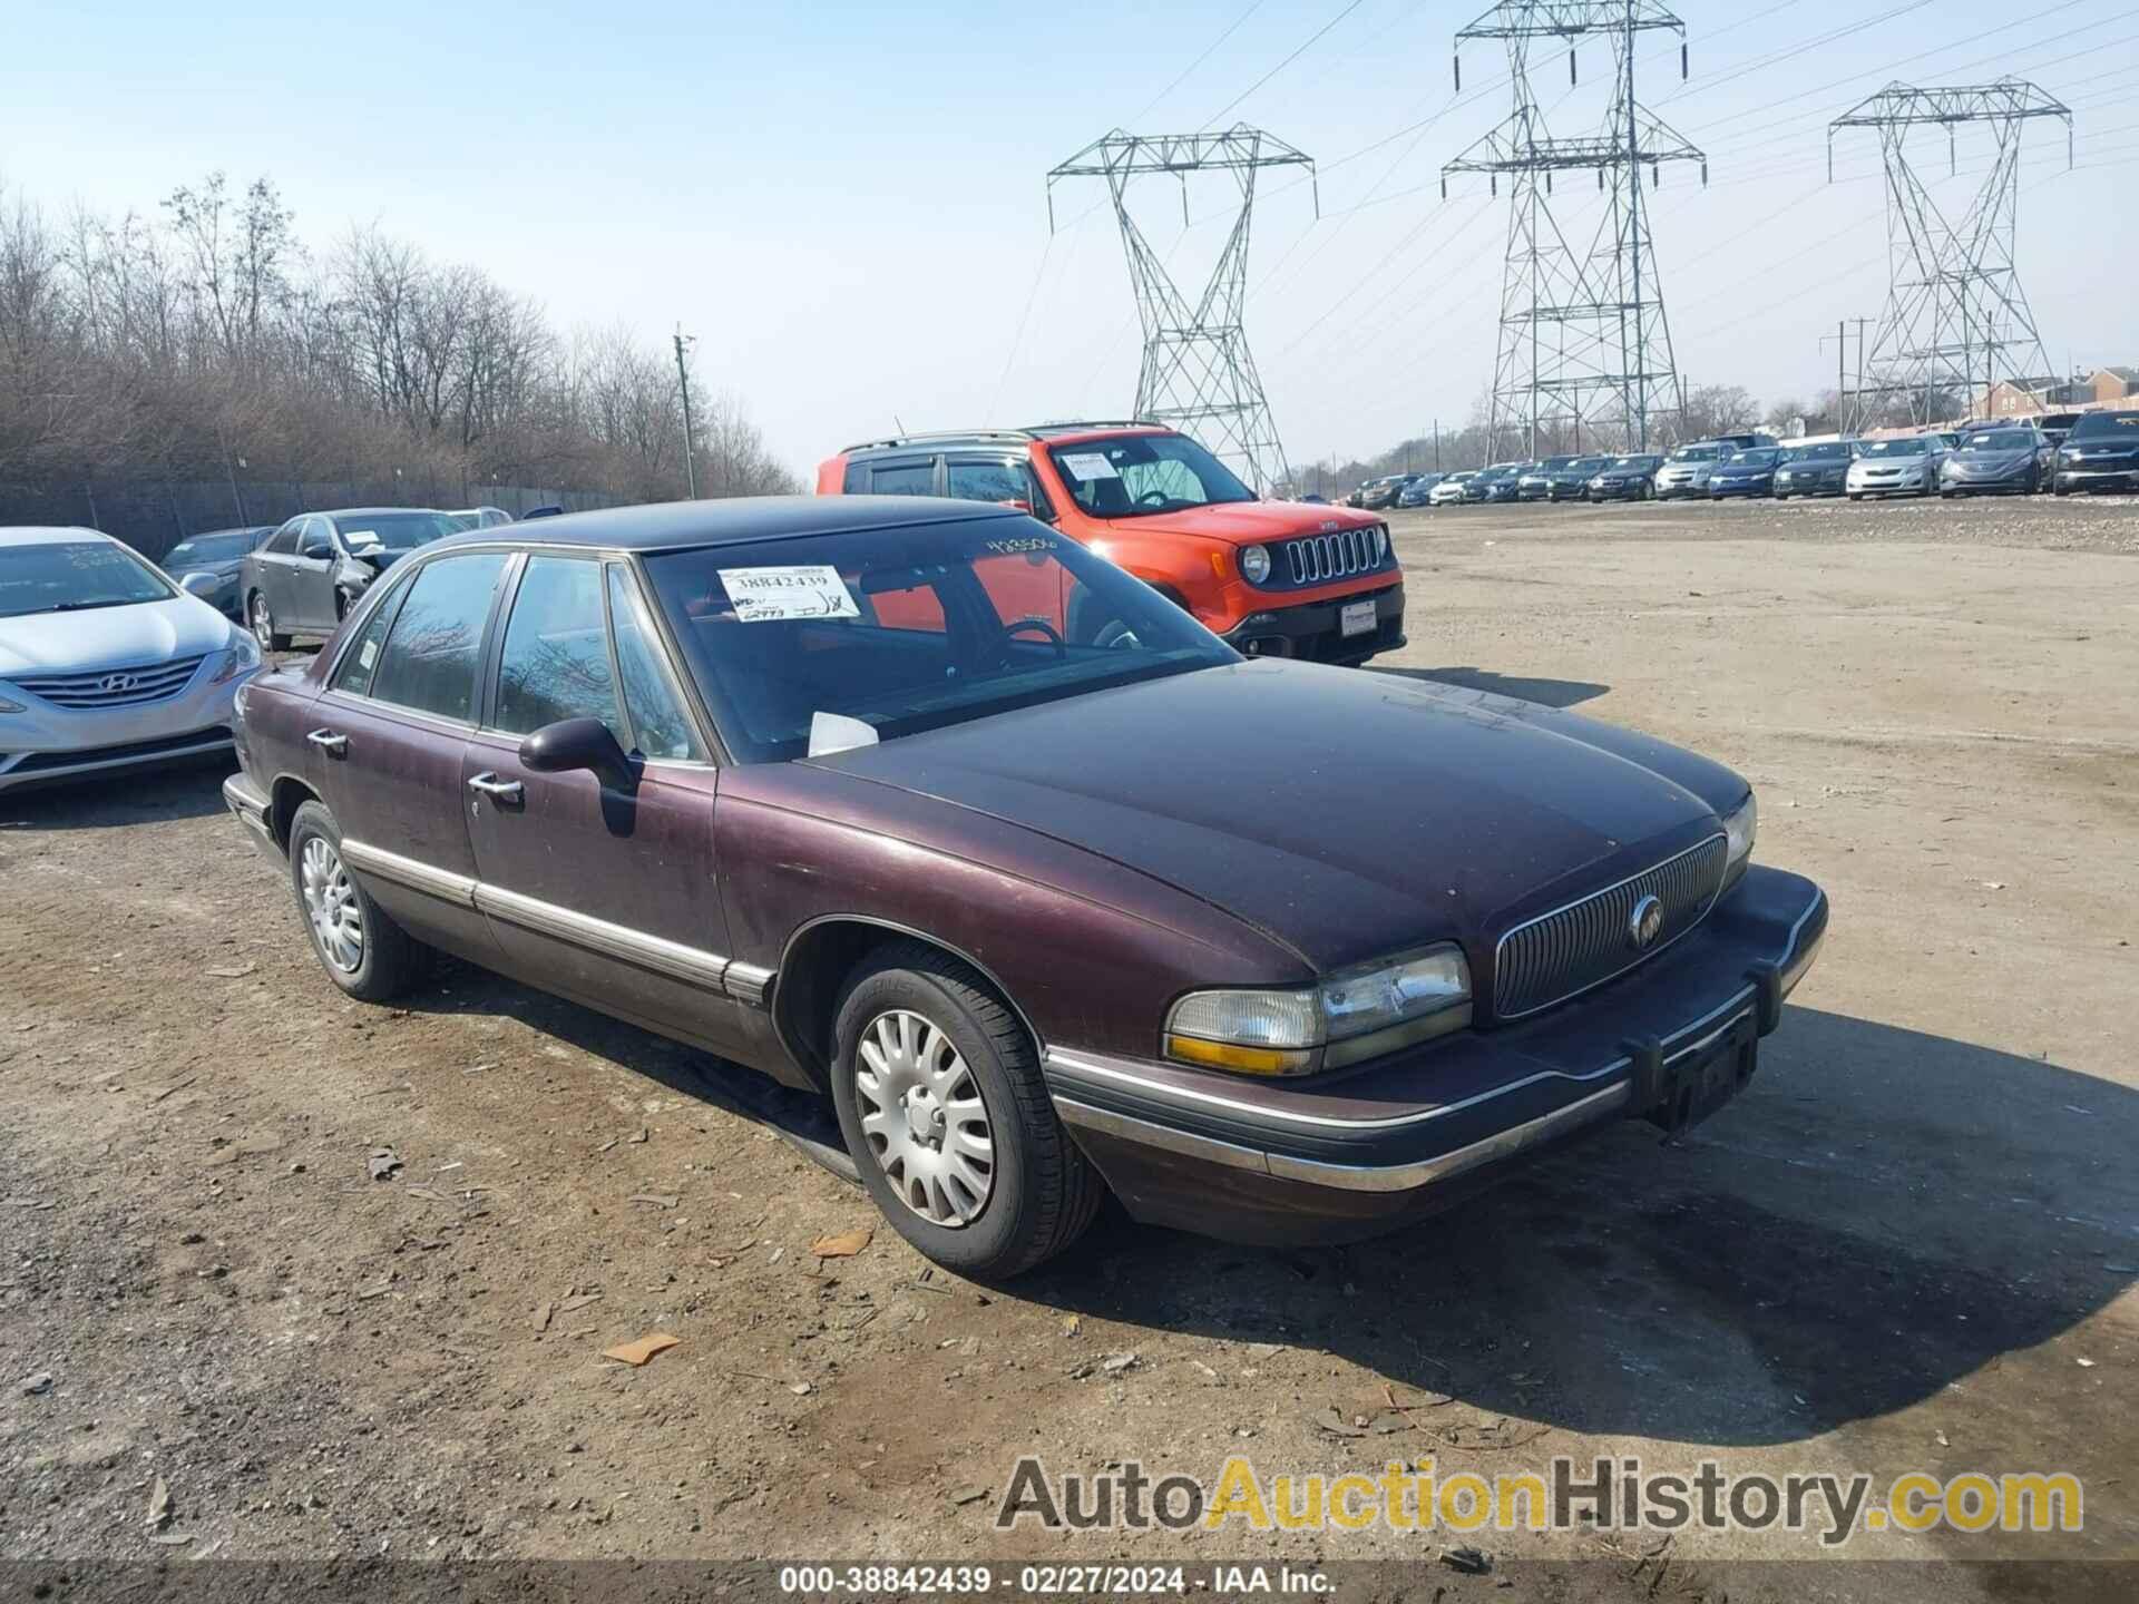
[{"label": "rightmost steel lattice transmission tower, above the distant parked cars", "polygon": [[[1914,90],[1889,83],[1827,128],[1827,175],[1835,169],[1840,128],[1878,128],[1887,154],[1887,263],[1891,289],[1867,372],[1859,381],[1850,430],[1878,421],[1895,400],[1914,423],[1934,423],[1951,406],[1972,406],[1972,394],[2000,379],[2049,372],[2034,312],[2019,287],[2013,237],[2019,216],[2021,128],[2036,118],[2064,118],[2071,160],[2073,113],[2015,77],[1974,88]],[[1959,169],[1957,128],[1987,122],[1998,158],[1968,214],[1953,225],[1908,158],[1912,128],[1946,130],[1949,171]]]}]

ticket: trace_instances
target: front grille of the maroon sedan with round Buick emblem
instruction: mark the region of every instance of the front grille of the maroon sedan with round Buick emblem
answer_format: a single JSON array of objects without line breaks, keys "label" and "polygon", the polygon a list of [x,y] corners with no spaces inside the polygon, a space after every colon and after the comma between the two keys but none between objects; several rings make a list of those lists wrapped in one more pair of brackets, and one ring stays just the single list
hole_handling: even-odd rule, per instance
[{"label": "front grille of the maroon sedan with round Buick emblem", "polygon": [[[1724,836],[1709,836],[1656,868],[1512,928],[1493,952],[1493,1012],[1504,1020],[1536,1014],[1653,958],[1709,911],[1726,853]],[[1636,952],[1628,922],[1645,896],[1664,905],[1664,917],[1656,941]]]}]

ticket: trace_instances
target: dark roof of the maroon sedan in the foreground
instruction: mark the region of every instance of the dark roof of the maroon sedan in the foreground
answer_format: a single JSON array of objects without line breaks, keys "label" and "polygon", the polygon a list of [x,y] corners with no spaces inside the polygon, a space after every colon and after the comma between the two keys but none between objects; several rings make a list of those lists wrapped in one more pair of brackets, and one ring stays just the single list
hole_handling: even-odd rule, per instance
[{"label": "dark roof of the maroon sedan in the foreground", "polygon": [[650,507],[603,507],[535,524],[466,530],[428,545],[588,545],[618,552],[667,552],[693,545],[789,541],[804,535],[851,535],[871,528],[967,524],[982,518],[1025,518],[1016,507],[952,496],[734,496],[667,500]]}]

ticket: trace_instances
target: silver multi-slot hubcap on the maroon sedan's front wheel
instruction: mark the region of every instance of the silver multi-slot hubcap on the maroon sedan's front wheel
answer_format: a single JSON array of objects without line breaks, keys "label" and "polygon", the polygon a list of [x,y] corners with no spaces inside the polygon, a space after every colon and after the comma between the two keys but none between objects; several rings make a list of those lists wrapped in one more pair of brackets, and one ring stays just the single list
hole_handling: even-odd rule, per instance
[{"label": "silver multi-slot hubcap on the maroon sedan's front wheel", "polygon": [[892,1191],[933,1225],[971,1225],[995,1187],[995,1138],[980,1082],[950,1035],[892,1009],[862,1031],[853,1095]]}]

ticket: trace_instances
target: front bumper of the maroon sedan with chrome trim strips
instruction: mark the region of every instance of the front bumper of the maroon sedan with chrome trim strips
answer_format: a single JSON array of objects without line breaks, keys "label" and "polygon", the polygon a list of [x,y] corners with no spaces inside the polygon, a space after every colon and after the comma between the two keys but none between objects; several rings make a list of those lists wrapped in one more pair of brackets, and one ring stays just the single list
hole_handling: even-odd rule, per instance
[{"label": "front bumper of the maroon sedan with chrome trim strips", "polygon": [[1243,1243],[1341,1243],[1692,1089],[1726,1097],[1827,935],[1827,896],[1754,866],[1698,932],[1587,999],[1337,1078],[1247,1080],[1050,1048],[1055,1110],[1129,1213]]}]

